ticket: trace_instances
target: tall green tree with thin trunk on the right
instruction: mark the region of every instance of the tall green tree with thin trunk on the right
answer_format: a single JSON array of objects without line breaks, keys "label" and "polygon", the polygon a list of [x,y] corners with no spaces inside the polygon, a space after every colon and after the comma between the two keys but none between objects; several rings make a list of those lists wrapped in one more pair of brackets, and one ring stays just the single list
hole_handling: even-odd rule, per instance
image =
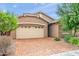
[{"label": "tall green tree with thin trunk on the right", "polygon": [[61,17],[60,23],[62,28],[66,31],[73,31],[76,36],[77,29],[79,29],[79,4],[61,4],[58,8],[58,15]]}]

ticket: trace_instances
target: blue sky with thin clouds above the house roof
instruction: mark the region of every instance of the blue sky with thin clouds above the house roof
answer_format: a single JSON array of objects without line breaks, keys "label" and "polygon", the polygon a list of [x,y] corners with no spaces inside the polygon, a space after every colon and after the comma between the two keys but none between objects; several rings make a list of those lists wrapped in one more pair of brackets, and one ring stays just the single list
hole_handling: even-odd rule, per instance
[{"label": "blue sky with thin clouds above the house roof", "polygon": [[58,19],[56,14],[58,5],[56,3],[0,3],[0,10],[9,11],[16,15],[41,11],[54,19]]}]

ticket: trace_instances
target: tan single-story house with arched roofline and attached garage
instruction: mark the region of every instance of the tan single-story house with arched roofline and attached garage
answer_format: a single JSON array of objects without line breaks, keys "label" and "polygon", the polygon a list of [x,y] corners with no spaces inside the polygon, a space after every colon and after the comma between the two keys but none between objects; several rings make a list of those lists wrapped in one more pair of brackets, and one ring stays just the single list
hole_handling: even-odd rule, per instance
[{"label": "tan single-story house with arched roofline and attached garage", "polygon": [[59,37],[59,24],[42,12],[18,17],[19,27],[11,32],[16,39]]}]

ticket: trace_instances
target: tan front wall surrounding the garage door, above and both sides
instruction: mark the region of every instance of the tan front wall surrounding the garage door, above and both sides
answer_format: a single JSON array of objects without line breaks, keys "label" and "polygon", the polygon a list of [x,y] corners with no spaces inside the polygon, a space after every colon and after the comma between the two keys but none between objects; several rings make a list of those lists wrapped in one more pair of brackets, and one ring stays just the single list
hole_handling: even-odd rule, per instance
[{"label": "tan front wall surrounding the garage door, above and both sides", "polygon": [[[31,24],[33,23],[38,23],[38,24],[44,24],[44,36],[48,37],[48,23],[40,18],[37,17],[21,17],[19,18],[19,23],[20,22],[30,22]],[[16,38],[16,31],[11,32],[11,36],[13,38]]]}]

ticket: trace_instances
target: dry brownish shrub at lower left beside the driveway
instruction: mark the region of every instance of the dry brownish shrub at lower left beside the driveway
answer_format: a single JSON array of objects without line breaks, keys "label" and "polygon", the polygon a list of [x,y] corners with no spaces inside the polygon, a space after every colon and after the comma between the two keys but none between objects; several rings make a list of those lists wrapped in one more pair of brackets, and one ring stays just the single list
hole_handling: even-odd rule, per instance
[{"label": "dry brownish shrub at lower left beside the driveway", "polygon": [[0,36],[0,54],[8,56],[13,54],[12,39],[7,36]]}]

